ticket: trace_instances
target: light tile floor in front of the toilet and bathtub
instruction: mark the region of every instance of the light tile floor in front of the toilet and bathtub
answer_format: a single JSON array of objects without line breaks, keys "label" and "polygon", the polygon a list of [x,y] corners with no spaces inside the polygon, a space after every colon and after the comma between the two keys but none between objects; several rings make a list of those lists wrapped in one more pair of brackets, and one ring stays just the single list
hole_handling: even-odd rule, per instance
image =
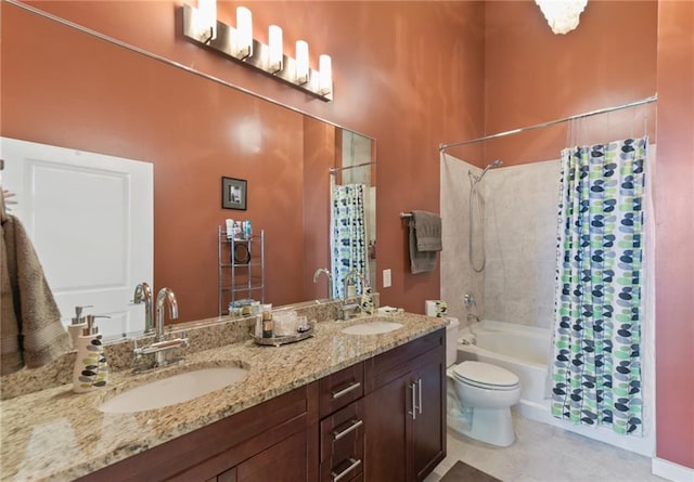
[{"label": "light tile floor in front of the toilet and bathtub", "polygon": [[503,482],[663,482],[651,459],[514,415],[516,441],[498,448],[448,430],[448,456],[425,482],[462,460]]}]

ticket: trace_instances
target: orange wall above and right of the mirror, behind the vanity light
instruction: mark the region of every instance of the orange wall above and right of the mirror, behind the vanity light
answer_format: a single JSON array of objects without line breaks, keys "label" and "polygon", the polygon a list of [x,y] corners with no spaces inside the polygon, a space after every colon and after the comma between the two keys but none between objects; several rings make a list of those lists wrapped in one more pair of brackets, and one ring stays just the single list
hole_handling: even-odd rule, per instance
[{"label": "orange wall above and right of the mirror, behind the vanity light", "polygon": [[[480,2],[250,2],[259,40],[260,32],[277,23],[287,49],[303,38],[312,63],[319,53],[332,55],[331,103],[183,40],[176,23],[180,1],[27,3],[376,139],[377,263],[378,270],[393,270],[390,288],[382,288],[377,276],[381,300],[422,312],[425,299],[438,298],[438,270],[408,274],[407,230],[398,214],[412,209],[438,212],[438,144],[481,133]],[[237,4],[220,2],[220,19],[233,24]],[[198,130],[196,118],[190,117],[185,128]],[[188,227],[180,221],[175,225],[179,232]],[[159,249],[156,239],[155,245]],[[189,269],[193,266],[178,271]],[[304,278],[311,274],[304,273]],[[159,269],[155,278],[157,286],[166,279]]]}]

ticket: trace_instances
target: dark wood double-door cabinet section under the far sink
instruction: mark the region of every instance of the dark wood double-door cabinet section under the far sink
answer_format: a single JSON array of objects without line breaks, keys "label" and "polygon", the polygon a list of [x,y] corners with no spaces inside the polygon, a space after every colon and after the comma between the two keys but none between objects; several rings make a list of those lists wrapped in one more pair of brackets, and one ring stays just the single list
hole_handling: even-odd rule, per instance
[{"label": "dark wood double-door cabinet section under the far sink", "polygon": [[444,330],[373,359],[367,481],[421,481],[446,456]]}]

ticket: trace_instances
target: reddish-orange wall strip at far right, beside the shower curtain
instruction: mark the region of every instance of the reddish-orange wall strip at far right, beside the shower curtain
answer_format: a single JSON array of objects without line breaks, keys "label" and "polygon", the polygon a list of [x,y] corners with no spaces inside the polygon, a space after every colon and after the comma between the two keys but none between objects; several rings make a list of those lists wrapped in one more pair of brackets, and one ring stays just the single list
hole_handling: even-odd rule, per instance
[{"label": "reddish-orange wall strip at far right, beside the shower curtain", "polygon": [[657,456],[694,470],[694,3],[658,15]]}]

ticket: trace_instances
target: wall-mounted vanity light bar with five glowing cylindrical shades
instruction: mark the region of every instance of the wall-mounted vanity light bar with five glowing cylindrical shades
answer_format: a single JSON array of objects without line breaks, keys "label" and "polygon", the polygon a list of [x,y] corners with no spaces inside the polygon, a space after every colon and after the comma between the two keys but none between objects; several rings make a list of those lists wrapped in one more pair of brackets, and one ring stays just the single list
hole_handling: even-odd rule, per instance
[{"label": "wall-mounted vanity light bar with five glowing cylindrical shades", "polygon": [[304,40],[296,42],[296,58],[284,55],[282,28],[277,25],[269,27],[268,44],[259,42],[253,38],[253,16],[245,6],[236,9],[236,28],[217,19],[213,22],[214,28],[209,19],[205,25],[201,19],[204,18],[201,8],[208,2],[215,3],[214,0],[198,0],[197,9],[183,5],[183,36],[187,39],[323,101],[333,100],[332,61],[329,55],[319,57],[320,70],[310,68],[308,43]]}]

